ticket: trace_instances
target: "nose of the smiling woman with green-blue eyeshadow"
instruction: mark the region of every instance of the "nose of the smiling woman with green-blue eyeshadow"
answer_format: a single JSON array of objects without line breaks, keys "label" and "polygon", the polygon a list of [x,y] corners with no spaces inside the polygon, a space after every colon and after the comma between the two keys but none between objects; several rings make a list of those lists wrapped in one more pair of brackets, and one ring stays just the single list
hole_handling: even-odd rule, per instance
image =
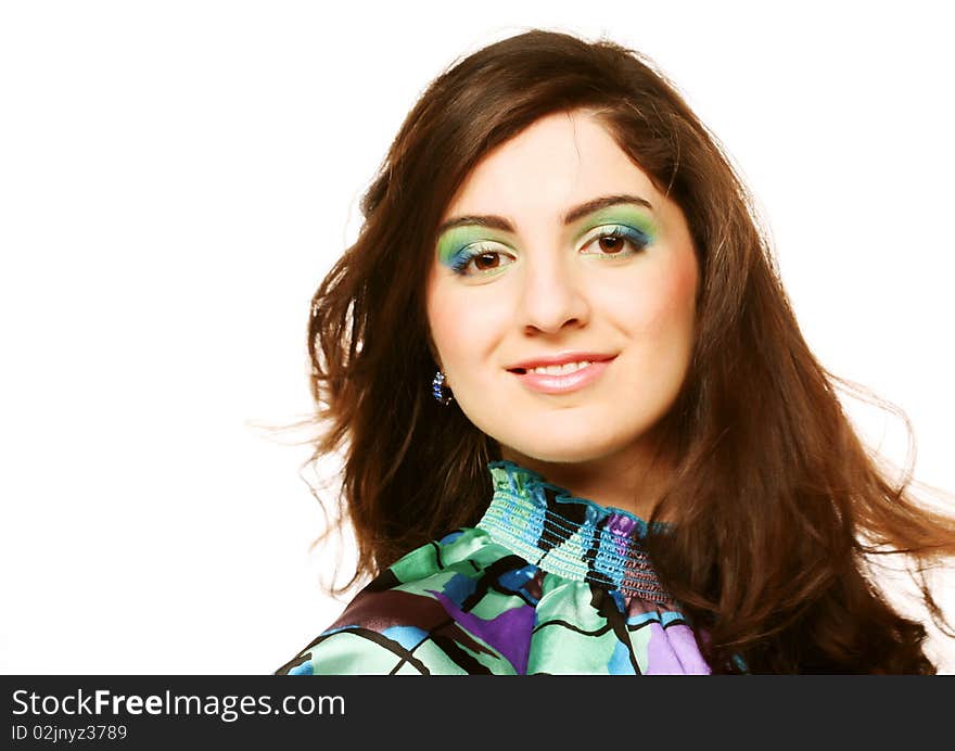
[{"label": "nose of the smiling woman with green-blue eyeshadow", "polygon": [[538,254],[524,267],[518,323],[526,333],[558,333],[586,324],[590,316],[584,280],[573,260]]}]

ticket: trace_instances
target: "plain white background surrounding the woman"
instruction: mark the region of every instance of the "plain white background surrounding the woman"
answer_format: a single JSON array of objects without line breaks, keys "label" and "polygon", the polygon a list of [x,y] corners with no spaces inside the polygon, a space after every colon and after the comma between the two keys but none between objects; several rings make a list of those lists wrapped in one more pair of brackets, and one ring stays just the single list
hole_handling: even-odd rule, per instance
[{"label": "plain white background surrounding the woman", "polygon": [[311,293],[418,96],[535,26],[660,64],[755,193],[811,347],[955,489],[943,7],[4,2],[0,671],[270,673],[338,614],[308,446],[255,425],[310,410]]}]

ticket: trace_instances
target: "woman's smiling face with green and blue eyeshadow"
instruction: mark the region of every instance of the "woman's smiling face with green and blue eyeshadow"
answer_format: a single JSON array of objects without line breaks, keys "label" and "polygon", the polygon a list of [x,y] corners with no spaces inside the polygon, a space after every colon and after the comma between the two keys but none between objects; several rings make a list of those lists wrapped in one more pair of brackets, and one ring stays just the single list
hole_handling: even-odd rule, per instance
[{"label": "woman's smiling face with green and blue eyeshadow", "polygon": [[[448,221],[428,320],[468,419],[505,458],[640,450],[679,391],[693,341],[699,275],[679,207],[577,111],[488,153]],[[542,359],[591,365],[531,371]]]}]

